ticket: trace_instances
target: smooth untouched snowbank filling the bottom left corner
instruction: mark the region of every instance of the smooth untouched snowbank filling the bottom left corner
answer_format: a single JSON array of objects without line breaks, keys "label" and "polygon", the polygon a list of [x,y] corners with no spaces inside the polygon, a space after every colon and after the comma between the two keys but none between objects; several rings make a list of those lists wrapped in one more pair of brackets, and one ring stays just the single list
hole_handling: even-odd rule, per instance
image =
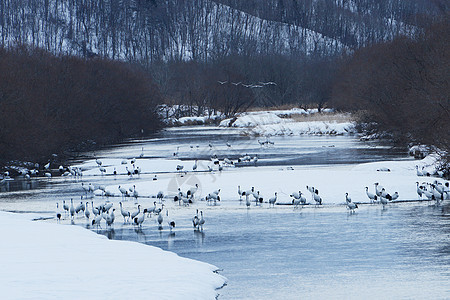
[{"label": "smooth untouched snowbank filling the bottom left corner", "polygon": [[214,299],[210,264],[0,212],[2,299]]}]

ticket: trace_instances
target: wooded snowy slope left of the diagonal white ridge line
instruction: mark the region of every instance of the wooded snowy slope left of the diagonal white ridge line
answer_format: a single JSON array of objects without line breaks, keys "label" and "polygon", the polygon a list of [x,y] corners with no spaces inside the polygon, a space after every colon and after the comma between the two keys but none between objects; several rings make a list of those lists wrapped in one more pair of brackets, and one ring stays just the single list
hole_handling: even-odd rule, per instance
[{"label": "wooded snowy slope left of the diagonal white ridge line", "polygon": [[[159,7],[160,15],[155,10],[154,15],[147,17],[151,22],[162,17],[161,26],[142,26],[147,21],[145,14],[137,13],[127,2],[100,7],[93,3],[89,8],[67,0],[50,1],[47,5],[45,10],[39,10],[33,1],[7,6],[8,26],[0,24],[4,44],[19,42],[55,54],[89,54],[125,61],[207,58],[219,53],[244,52],[245,45],[251,45],[257,52],[280,54],[334,54],[348,49],[337,39],[316,31],[262,19],[214,1],[205,2],[202,9],[188,3],[186,11],[174,8],[177,2],[163,4]],[[118,11],[113,12],[115,9]],[[46,11],[51,11],[51,17]],[[104,18],[105,13],[115,19]],[[24,19],[21,22],[10,17],[19,14]],[[110,22],[114,25],[109,26]]]}]

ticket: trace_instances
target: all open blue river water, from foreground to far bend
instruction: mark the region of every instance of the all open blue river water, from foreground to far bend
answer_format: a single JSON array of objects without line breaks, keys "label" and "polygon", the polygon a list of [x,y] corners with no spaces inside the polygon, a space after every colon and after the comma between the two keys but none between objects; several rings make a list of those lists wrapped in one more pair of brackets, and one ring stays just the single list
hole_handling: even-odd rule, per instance
[{"label": "all open blue river water, from foreground to far bend", "polygon": [[[261,166],[312,167],[408,159],[404,150],[351,136],[272,137],[274,145],[269,147],[261,147],[257,140],[241,136],[238,130],[175,128],[96,154],[103,159],[131,158],[143,148],[145,159],[169,159],[176,153],[188,160],[208,159],[211,151],[229,158],[248,153],[257,154]],[[86,179],[105,185],[121,180]],[[47,216],[53,214],[55,199],[80,196],[80,183],[71,180],[35,180],[28,185],[17,181],[9,188],[3,186],[0,209]],[[142,229],[117,221],[114,229],[97,232],[218,266],[228,278],[228,285],[218,291],[219,299],[450,298],[448,204],[397,204],[387,209],[367,205],[355,214],[340,207],[245,210],[228,206],[204,211],[203,232],[192,230],[191,212],[173,232],[158,230],[153,220]]]}]

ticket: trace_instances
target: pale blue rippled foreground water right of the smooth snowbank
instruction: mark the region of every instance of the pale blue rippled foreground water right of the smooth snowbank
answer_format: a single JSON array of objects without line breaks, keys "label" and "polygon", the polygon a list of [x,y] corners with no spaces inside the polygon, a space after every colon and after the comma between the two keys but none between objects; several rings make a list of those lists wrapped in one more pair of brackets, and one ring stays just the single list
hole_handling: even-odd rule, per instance
[{"label": "pale blue rippled foreground water right of the smooth snowbank", "polygon": [[150,222],[142,229],[116,229],[115,238],[219,266],[229,279],[220,299],[346,298],[352,284],[361,285],[353,289],[357,298],[383,297],[380,291],[392,280],[391,298],[445,298],[450,296],[449,207],[374,205],[354,214],[344,208],[210,210],[203,232],[179,220],[172,233]]}]

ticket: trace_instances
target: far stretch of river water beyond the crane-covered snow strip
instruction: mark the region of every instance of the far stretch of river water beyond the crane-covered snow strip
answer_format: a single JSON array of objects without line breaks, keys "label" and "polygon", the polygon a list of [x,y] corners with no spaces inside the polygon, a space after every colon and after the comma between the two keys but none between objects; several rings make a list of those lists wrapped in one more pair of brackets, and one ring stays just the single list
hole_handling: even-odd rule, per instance
[{"label": "far stretch of river water beyond the crane-covered snow strip", "polygon": [[[186,127],[166,130],[151,140],[133,141],[98,153],[102,157],[135,157],[142,147],[146,158],[237,159],[245,154],[255,156],[260,165],[354,164],[407,157],[407,150],[379,141],[362,142],[354,136],[275,136],[248,137],[238,129]],[[272,146],[260,146],[258,140],[270,140]],[[231,147],[227,147],[229,142]],[[208,144],[212,145],[210,149]],[[192,148],[191,148],[192,146]],[[198,146],[198,148],[197,148]],[[179,150],[177,151],[177,147]]]}]

